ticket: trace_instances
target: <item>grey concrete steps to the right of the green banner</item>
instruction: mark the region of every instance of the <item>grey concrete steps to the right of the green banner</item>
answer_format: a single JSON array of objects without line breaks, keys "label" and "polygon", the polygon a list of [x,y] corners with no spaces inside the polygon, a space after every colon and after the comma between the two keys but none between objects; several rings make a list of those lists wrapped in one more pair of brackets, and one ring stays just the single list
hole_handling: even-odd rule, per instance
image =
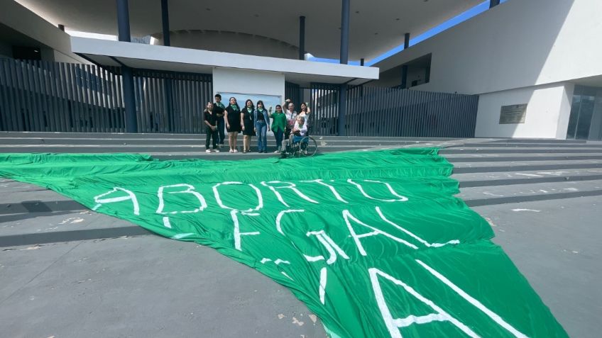
[{"label": "grey concrete steps to the right of the green banner", "polygon": [[470,206],[602,196],[602,142],[475,140],[439,153]]}]

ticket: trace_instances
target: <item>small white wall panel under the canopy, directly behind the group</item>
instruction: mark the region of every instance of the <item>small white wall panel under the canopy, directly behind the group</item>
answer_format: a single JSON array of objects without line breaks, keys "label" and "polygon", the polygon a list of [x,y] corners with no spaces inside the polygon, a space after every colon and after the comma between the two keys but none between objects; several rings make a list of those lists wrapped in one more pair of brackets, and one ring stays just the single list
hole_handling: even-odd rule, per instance
[{"label": "small white wall panel under the canopy, directly behind the group", "polygon": [[[284,101],[285,76],[278,72],[258,72],[242,69],[213,69],[213,94],[219,92],[277,95]],[[228,98],[221,98],[227,103]],[[244,103],[244,102],[243,102]],[[239,105],[242,104],[239,102]]]}]

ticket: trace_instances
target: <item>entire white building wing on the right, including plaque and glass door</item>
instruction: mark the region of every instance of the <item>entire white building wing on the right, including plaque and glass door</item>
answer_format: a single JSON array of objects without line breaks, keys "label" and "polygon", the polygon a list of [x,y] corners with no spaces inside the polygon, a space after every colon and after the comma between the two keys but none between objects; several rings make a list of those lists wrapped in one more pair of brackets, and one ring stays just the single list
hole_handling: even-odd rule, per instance
[{"label": "entire white building wing on the right, including plaque and glass door", "polygon": [[372,85],[400,85],[405,65],[408,88],[479,96],[476,137],[601,140],[600,11],[510,0],[376,63]]}]

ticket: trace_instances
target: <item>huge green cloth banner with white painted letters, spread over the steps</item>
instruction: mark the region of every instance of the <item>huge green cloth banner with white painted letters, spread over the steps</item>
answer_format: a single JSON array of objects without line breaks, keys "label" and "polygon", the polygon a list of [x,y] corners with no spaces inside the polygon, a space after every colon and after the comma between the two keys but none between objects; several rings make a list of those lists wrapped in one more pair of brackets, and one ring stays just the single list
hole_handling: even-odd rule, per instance
[{"label": "huge green cloth banner with white painted letters, spread over the steps", "polygon": [[287,286],[331,337],[567,337],[436,149],[158,161],[0,154],[0,176],[217,249]]}]

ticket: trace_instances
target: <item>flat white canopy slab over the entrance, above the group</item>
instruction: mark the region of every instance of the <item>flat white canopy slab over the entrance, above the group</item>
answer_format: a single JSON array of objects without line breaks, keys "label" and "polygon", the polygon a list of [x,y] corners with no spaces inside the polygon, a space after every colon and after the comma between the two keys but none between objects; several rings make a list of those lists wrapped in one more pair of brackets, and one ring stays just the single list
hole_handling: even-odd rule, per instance
[{"label": "flat white canopy slab over the entrance, above the group", "polygon": [[304,60],[241,55],[209,50],[143,45],[120,41],[71,38],[73,52],[97,64],[173,72],[212,73],[214,67],[285,74],[297,84],[324,82],[362,84],[378,79],[378,68]]}]

